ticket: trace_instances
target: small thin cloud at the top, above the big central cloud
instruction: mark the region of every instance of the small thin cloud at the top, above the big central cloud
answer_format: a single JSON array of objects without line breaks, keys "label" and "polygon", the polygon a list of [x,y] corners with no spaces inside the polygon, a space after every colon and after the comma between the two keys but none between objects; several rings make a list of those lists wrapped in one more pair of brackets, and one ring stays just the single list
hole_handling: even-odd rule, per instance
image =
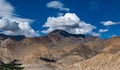
[{"label": "small thin cloud at the top, above the big central cloud", "polygon": [[60,1],[51,1],[47,3],[48,8],[59,9],[60,11],[70,11],[69,8],[65,8]]}]

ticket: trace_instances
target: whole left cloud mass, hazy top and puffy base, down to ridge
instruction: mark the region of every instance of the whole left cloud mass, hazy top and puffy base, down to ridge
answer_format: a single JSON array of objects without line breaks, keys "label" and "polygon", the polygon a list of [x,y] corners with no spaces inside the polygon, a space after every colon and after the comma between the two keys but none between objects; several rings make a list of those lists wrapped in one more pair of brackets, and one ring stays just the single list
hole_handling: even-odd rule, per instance
[{"label": "whole left cloud mass, hazy top and puffy base, down to ridge", "polygon": [[27,37],[38,36],[31,28],[33,20],[15,16],[14,7],[6,0],[0,0],[0,30],[7,35],[25,35]]}]

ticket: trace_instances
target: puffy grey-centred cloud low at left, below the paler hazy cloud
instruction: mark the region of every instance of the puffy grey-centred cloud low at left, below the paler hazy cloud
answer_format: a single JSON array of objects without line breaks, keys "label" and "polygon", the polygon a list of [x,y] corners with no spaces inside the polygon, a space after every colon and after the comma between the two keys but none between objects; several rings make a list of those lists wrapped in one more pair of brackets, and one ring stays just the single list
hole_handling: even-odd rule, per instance
[{"label": "puffy grey-centred cloud low at left, below the paler hazy cloud", "polygon": [[[25,19],[24,19],[25,20]],[[0,19],[0,30],[7,35],[25,35],[27,37],[38,36],[30,27],[29,21],[14,20],[3,17]]]}]

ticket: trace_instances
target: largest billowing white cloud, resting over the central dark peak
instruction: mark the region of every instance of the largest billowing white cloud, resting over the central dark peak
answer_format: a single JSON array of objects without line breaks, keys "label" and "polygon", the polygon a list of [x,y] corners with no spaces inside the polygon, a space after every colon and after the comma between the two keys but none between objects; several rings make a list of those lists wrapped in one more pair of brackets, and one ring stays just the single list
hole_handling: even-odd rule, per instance
[{"label": "largest billowing white cloud, resting over the central dark peak", "polygon": [[74,13],[66,13],[64,16],[59,17],[48,17],[43,27],[48,28],[47,30],[43,30],[43,33],[49,33],[53,30],[60,29],[71,34],[97,35],[97,33],[93,32],[93,29],[96,29],[95,26],[81,21]]}]

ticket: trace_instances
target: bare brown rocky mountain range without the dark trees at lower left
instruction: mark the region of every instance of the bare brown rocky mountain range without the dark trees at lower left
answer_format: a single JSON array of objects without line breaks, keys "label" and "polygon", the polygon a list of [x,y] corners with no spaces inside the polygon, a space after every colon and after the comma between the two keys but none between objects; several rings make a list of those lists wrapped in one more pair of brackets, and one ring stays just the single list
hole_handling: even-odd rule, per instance
[{"label": "bare brown rocky mountain range without the dark trees at lower left", "polygon": [[102,39],[55,30],[43,37],[0,34],[0,61],[24,70],[119,70],[120,37]]}]

